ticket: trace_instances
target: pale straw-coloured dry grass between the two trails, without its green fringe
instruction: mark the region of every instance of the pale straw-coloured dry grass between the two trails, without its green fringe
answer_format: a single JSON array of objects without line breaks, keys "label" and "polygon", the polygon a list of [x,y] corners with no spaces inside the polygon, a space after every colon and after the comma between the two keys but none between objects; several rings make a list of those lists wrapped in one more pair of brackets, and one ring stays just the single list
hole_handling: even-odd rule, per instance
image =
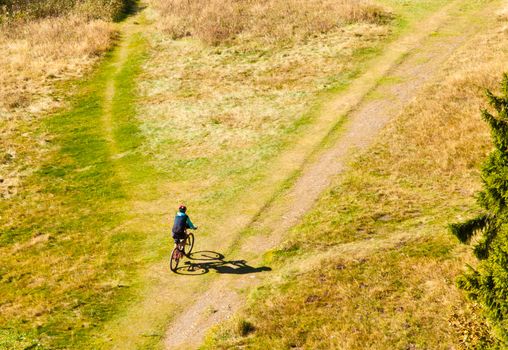
[{"label": "pale straw-coloured dry grass between the two trails, without its green fringe", "polygon": [[306,43],[257,49],[156,37],[141,83],[145,151],[163,168],[175,166],[175,145],[189,160],[241,163],[251,162],[246,154],[266,156],[319,92],[351,78],[361,61],[355,53],[375,47],[388,32],[387,26],[355,24]]}]

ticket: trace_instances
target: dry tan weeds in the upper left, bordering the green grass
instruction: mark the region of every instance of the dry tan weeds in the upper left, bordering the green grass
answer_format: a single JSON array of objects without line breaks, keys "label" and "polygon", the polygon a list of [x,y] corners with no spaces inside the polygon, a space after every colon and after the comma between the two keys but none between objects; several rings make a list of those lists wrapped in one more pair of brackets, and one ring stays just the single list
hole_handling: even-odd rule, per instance
[{"label": "dry tan weeds in the upper left, bordering the green grass", "polygon": [[61,104],[55,83],[82,76],[110,47],[113,33],[108,22],[75,14],[2,25],[0,197],[14,195],[20,176],[33,170],[44,140],[35,140],[28,124]]}]

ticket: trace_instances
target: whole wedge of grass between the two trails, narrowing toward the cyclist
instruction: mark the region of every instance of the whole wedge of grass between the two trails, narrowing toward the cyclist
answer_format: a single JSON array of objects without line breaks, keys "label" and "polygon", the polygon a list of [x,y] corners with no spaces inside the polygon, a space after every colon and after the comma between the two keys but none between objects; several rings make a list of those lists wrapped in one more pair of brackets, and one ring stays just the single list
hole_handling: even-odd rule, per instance
[{"label": "whole wedge of grass between the two trails, narrowing toward the cyclist", "polygon": [[305,132],[323,99],[365,70],[383,41],[443,2],[411,11],[396,4],[385,2],[399,13],[391,26],[357,23],[289,44],[209,46],[171,40],[161,28],[144,67],[141,128],[145,152],[185,193],[174,203],[188,201],[204,225],[214,225],[217,206],[227,208],[246,183],[271,171],[270,160]]}]

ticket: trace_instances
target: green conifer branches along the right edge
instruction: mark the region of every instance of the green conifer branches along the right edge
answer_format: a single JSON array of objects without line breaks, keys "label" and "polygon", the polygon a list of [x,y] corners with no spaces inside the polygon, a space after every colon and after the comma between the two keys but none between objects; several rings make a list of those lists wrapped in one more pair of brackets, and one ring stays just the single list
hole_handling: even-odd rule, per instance
[{"label": "green conifer branches along the right edge", "polygon": [[496,335],[508,345],[508,74],[501,85],[501,96],[486,92],[495,113],[482,111],[495,146],[482,169],[478,203],[484,213],[450,229],[463,243],[474,237],[480,263],[477,268],[469,266],[458,285],[483,306]]}]

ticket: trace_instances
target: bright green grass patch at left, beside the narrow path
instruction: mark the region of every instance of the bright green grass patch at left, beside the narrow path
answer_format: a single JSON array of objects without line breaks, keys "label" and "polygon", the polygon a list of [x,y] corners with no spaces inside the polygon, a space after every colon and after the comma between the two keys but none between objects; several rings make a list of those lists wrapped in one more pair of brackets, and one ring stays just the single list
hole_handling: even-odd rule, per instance
[{"label": "bright green grass patch at left, beside the narrow path", "polygon": [[40,132],[51,135],[51,149],[44,164],[20,197],[1,204],[10,216],[0,234],[0,293],[11,306],[0,318],[0,341],[8,348],[82,347],[134,293],[129,286],[142,267],[135,257],[144,236],[113,231],[127,219],[131,195],[119,172],[129,165],[131,186],[154,176],[140,156],[115,162],[103,125],[104,91],[114,78],[115,139],[132,154],[143,142],[134,107],[143,39],[131,45],[136,55],[116,77],[113,51],[76,83],[70,108],[45,119]]}]

